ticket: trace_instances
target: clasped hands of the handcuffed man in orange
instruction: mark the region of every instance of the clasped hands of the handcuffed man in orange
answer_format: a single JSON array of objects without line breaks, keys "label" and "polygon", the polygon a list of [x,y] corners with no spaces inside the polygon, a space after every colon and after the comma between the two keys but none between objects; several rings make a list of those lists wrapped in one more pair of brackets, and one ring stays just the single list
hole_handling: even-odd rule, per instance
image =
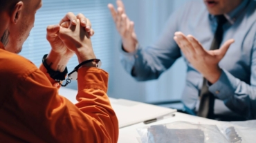
[{"label": "clasped hands of the handcuffed man in orange", "polygon": [[63,70],[59,67],[65,67],[74,54],[79,63],[95,59],[91,44],[93,34],[89,19],[82,14],[75,16],[72,12],[68,12],[59,24],[48,26],[46,39],[52,49],[47,61],[51,61],[53,70]]}]

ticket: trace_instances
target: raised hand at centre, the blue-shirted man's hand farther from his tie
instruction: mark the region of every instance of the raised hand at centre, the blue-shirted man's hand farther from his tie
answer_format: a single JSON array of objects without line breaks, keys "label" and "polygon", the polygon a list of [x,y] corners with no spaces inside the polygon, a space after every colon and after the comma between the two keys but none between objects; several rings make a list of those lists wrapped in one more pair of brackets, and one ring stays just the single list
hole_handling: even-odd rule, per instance
[{"label": "raised hand at centre, the blue-shirted man's hand farther from his tie", "polygon": [[122,46],[127,53],[132,53],[136,50],[138,40],[136,33],[134,32],[134,22],[130,21],[125,14],[125,6],[121,0],[117,0],[117,10],[112,4],[109,4],[109,10],[113,17],[113,21],[116,23],[116,28],[122,37]]}]

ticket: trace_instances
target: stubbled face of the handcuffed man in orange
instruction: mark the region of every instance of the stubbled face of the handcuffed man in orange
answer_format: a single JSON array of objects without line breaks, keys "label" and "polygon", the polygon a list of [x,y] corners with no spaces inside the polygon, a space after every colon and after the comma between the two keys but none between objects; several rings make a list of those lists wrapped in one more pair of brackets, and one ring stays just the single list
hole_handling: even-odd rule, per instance
[{"label": "stubbled face of the handcuffed man in orange", "polygon": [[30,30],[34,27],[35,13],[42,7],[42,0],[28,0],[24,2],[19,20],[11,24],[5,34],[8,36],[6,50],[12,53],[20,53],[22,45],[29,36]]}]

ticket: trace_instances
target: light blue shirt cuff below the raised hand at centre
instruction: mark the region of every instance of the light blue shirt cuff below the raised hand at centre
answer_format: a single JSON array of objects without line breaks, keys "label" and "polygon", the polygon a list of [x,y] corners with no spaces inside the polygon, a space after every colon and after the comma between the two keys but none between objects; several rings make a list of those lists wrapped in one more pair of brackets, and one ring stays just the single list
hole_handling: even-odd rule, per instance
[{"label": "light blue shirt cuff below the raised hand at centre", "polygon": [[[121,46],[122,47],[122,46]],[[125,67],[125,70],[131,74],[131,70],[134,67],[135,64],[135,59],[137,57],[138,49],[140,46],[137,44],[136,45],[136,50],[133,53],[127,53],[123,48],[120,48],[120,61],[122,65]]]}]

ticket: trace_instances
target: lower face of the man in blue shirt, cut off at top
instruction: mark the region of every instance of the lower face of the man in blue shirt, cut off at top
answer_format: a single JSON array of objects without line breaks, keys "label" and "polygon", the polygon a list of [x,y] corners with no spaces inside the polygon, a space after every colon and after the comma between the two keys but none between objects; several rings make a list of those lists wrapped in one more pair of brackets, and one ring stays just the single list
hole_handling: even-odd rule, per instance
[{"label": "lower face of the man in blue shirt, cut off at top", "polygon": [[208,11],[212,15],[223,15],[225,13],[231,12],[243,0],[203,0]]}]

